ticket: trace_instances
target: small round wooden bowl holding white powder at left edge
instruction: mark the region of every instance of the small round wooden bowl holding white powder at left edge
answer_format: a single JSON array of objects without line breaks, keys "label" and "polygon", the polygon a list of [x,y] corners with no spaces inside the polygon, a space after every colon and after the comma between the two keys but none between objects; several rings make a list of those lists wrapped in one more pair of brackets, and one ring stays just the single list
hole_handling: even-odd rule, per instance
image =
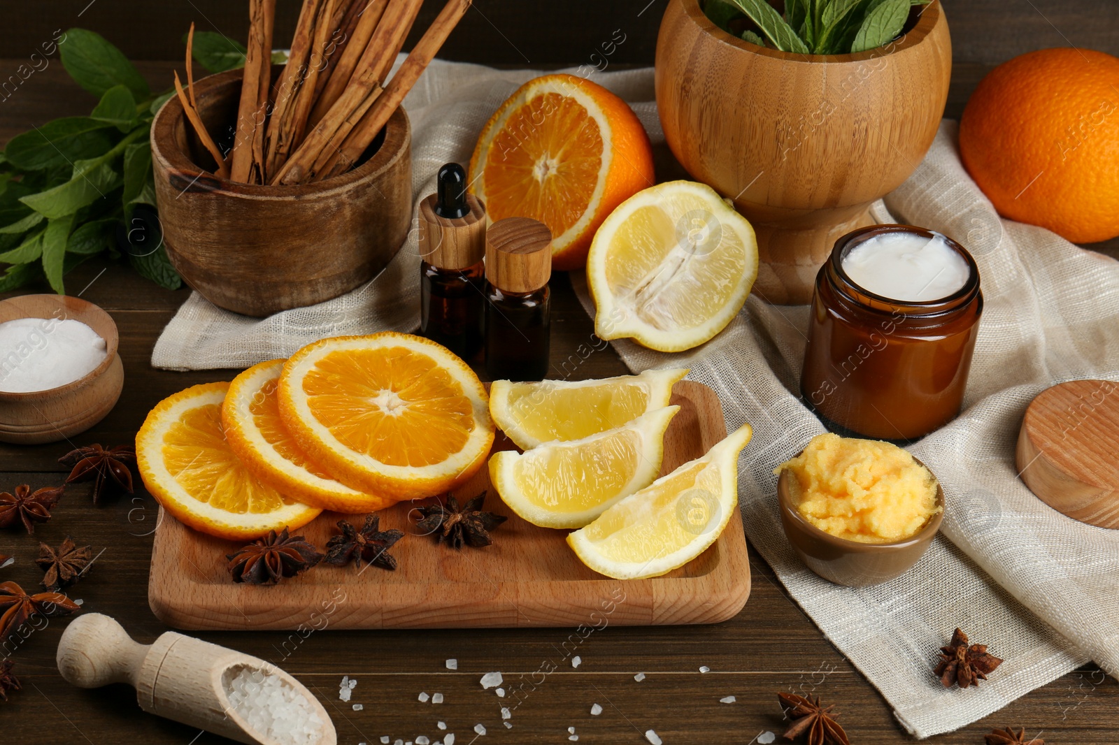
[{"label": "small round wooden bowl holding white powder at left edge", "polygon": [[49,390],[0,393],[0,441],[18,445],[58,442],[105,418],[124,387],[113,319],[93,303],[66,295],[20,295],[0,301],[0,323],[20,318],[81,321],[105,340],[107,355],[93,371]]}]

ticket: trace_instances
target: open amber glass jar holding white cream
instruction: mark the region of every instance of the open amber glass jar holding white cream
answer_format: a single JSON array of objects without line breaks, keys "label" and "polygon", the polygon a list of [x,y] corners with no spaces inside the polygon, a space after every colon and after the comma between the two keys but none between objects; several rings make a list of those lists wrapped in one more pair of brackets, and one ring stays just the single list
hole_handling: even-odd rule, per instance
[{"label": "open amber glass jar holding white cream", "polygon": [[888,232],[938,235],[910,225],[877,225],[836,242],[816,276],[800,390],[805,403],[834,425],[867,437],[913,440],[959,414],[982,293],[971,254],[947,236],[941,237],[969,271],[951,295],[905,302],[858,286],[844,272],[844,257]]}]

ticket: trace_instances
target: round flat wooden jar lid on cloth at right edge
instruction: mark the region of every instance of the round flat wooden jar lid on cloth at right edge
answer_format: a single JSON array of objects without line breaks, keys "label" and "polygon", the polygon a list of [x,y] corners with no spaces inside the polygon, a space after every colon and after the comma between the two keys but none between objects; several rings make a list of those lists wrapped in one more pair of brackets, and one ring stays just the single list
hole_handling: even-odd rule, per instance
[{"label": "round flat wooden jar lid on cloth at right edge", "polygon": [[1043,390],[1022,421],[1016,462],[1053,509],[1119,529],[1119,383],[1071,380]]}]

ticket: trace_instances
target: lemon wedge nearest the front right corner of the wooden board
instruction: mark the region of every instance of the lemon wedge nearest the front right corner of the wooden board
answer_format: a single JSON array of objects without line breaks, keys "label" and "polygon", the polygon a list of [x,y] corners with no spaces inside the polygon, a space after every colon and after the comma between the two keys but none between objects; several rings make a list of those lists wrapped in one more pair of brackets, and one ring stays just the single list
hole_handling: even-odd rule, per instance
[{"label": "lemon wedge nearest the front right corner of the wooden board", "polygon": [[739,453],[753,431],[731,433],[706,455],[630,494],[567,544],[586,566],[615,579],[657,577],[715,543],[739,503]]}]

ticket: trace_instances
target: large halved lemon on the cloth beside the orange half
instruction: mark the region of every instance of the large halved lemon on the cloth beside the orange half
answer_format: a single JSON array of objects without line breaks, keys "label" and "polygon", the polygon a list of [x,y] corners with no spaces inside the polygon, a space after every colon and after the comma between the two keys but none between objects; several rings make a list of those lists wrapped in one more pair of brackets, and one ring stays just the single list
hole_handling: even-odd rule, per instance
[{"label": "large halved lemon on the cloth beside the orange half", "polygon": [[645,189],[594,235],[586,281],[594,332],[659,351],[698,347],[742,310],[758,277],[754,229],[692,181]]}]

